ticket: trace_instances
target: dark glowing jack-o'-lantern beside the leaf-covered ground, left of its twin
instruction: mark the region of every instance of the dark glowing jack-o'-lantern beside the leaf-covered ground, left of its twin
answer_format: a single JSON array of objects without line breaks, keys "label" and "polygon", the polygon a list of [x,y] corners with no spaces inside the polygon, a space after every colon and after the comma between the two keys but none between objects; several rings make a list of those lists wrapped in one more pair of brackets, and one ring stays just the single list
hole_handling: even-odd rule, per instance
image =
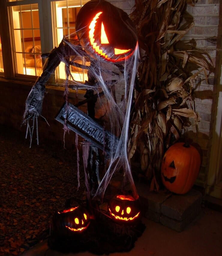
[{"label": "dark glowing jack-o'-lantern beside the leaf-covered ground, left of its twin", "polygon": [[81,233],[87,229],[89,223],[88,211],[81,206],[63,209],[53,217],[54,228],[60,234]]}]

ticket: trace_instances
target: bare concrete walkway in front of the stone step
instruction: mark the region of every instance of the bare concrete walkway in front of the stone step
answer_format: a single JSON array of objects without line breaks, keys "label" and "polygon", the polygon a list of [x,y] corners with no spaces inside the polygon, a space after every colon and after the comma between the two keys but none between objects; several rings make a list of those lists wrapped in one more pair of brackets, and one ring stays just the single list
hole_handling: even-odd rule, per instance
[{"label": "bare concrete walkway in front of the stone step", "polygon": [[[222,213],[202,209],[201,214],[181,233],[159,223],[143,219],[146,230],[128,253],[112,256],[221,256]],[[90,256],[91,253],[62,254],[48,249],[47,241],[36,245],[22,256]]]}]

